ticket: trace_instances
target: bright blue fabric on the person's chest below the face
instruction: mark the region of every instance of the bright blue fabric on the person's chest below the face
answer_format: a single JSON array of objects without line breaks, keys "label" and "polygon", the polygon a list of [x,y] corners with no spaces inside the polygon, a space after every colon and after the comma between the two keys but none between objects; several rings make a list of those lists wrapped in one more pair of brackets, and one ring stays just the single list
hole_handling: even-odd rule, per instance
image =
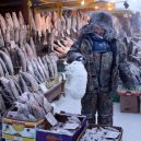
[{"label": "bright blue fabric on the person's chest below the face", "polygon": [[110,46],[109,46],[108,42],[105,40],[105,38],[103,38],[102,36],[97,35],[97,34],[93,34],[92,39],[93,39],[92,49],[94,52],[103,54],[103,52],[110,51]]}]

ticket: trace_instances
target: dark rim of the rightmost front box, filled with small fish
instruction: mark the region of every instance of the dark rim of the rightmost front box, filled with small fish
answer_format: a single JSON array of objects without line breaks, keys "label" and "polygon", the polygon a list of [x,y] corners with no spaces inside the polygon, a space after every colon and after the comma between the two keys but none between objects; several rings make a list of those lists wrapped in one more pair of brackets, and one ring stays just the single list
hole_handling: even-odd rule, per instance
[{"label": "dark rim of the rightmost front box, filled with small fish", "polygon": [[[85,127],[85,129],[83,130],[83,132],[79,136],[78,140],[77,141],[80,141],[81,138],[84,136],[86,129],[92,129],[92,128],[95,128],[95,127],[111,127],[111,126],[98,126],[98,125],[87,125]],[[121,127],[111,127],[111,128],[115,128],[117,129],[119,132],[120,132],[120,136],[118,137],[118,139],[116,139],[115,141],[122,141],[122,128]]]}]

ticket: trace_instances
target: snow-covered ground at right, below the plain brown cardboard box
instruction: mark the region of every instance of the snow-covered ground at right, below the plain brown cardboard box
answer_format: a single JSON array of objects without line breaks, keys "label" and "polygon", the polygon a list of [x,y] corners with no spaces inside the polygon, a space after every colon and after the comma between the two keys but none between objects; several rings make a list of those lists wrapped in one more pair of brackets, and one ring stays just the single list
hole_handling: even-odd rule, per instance
[{"label": "snow-covered ground at right, below the plain brown cardboard box", "polygon": [[141,141],[141,114],[120,113],[120,104],[114,103],[114,126],[122,127],[122,141]]}]

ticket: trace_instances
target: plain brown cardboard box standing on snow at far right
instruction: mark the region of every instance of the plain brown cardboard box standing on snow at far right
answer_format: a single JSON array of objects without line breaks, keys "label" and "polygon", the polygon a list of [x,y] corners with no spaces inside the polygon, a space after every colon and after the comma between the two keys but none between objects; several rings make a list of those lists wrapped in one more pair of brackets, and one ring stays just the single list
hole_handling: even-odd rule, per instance
[{"label": "plain brown cardboard box standing on snow at far right", "polygon": [[120,111],[121,113],[139,113],[140,101],[139,96],[120,95]]}]

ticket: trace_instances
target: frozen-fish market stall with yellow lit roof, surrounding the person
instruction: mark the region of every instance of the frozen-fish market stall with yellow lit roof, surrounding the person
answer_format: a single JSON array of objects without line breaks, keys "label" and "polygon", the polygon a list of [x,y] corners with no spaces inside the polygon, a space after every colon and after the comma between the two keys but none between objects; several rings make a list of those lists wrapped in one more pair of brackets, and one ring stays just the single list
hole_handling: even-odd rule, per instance
[{"label": "frozen-fish market stall with yellow lit roof, surrounding the person", "polygon": [[[125,45],[125,56],[132,72],[132,75],[125,74],[121,70],[125,82],[130,83],[127,75],[133,78],[134,84],[141,82],[141,38],[134,37],[129,22],[133,13],[114,10],[115,2],[107,1],[21,0],[8,3],[0,2],[0,122],[3,141],[121,141],[122,128],[87,125],[86,117],[79,114],[55,114],[57,105],[54,102],[66,99],[64,84],[72,81],[62,72],[66,56],[96,10],[115,15],[115,32]],[[7,5],[10,10],[5,9]],[[119,13],[124,13],[125,21]],[[118,93],[120,89],[124,86],[119,85]],[[129,87],[124,94],[128,91]],[[138,103],[133,103],[137,113],[140,86],[138,91],[139,95],[133,95],[133,102]],[[70,107],[69,104],[71,102],[64,108]]]}]

